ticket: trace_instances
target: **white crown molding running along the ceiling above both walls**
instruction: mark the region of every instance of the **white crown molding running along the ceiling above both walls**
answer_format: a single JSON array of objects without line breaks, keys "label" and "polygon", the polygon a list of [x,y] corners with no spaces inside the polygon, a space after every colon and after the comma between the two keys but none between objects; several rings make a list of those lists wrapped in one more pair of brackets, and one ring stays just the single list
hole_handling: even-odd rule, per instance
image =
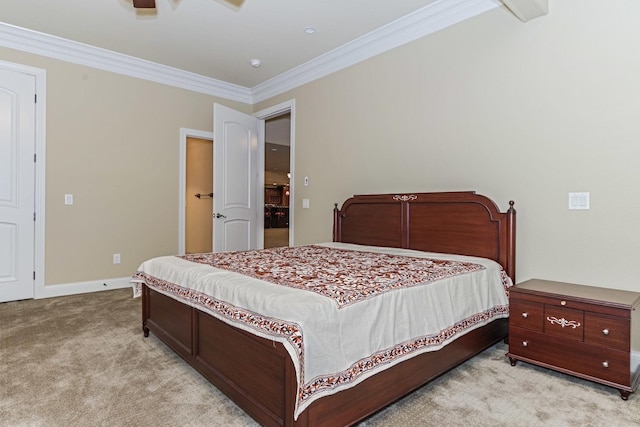
[{"label": "white crown molding running along the ceiling above both walls", "polygon": [[253,88],[2,22],[0,46],[254,104],[501,5],[499,0],[436,1]]}]

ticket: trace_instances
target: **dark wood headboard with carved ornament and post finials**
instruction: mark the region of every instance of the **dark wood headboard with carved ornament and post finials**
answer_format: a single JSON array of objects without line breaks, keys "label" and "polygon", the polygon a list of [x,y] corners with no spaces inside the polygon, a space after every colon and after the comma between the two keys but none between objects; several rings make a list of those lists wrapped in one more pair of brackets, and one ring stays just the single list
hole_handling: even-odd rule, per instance
[{"label": "dark wood headboard with carved ornament and post finials", "polygon": [[333,241],[489,258],[516,279],[516,211],[475,191],[369,194],[333,217]]}]

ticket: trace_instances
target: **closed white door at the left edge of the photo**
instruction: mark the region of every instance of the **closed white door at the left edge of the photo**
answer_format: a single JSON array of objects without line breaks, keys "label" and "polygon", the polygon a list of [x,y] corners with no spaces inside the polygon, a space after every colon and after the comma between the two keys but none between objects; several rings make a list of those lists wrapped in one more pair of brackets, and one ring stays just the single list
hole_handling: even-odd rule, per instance
[{"label": "closed white door at the left edge of the photo", "polygon": [[35,88],[0,68],[0,302],[34,297]]}]

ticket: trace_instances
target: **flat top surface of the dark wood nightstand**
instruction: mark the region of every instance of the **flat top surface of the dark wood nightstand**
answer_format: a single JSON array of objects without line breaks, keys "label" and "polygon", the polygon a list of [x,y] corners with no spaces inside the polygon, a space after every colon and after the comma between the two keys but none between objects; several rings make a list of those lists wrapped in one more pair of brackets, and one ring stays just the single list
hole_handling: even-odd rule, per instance
[{"label": "flat top surface of the dark wood nightstand", "polygon": [[574,297],[581,300],[607,301],[616,305],[630,306],[631,308],[640,306],[640,292],[621,289],[600,288],[541,279],[527,280],[518,283],[515,287],[518,290],[530,291],[531,293]]}]

